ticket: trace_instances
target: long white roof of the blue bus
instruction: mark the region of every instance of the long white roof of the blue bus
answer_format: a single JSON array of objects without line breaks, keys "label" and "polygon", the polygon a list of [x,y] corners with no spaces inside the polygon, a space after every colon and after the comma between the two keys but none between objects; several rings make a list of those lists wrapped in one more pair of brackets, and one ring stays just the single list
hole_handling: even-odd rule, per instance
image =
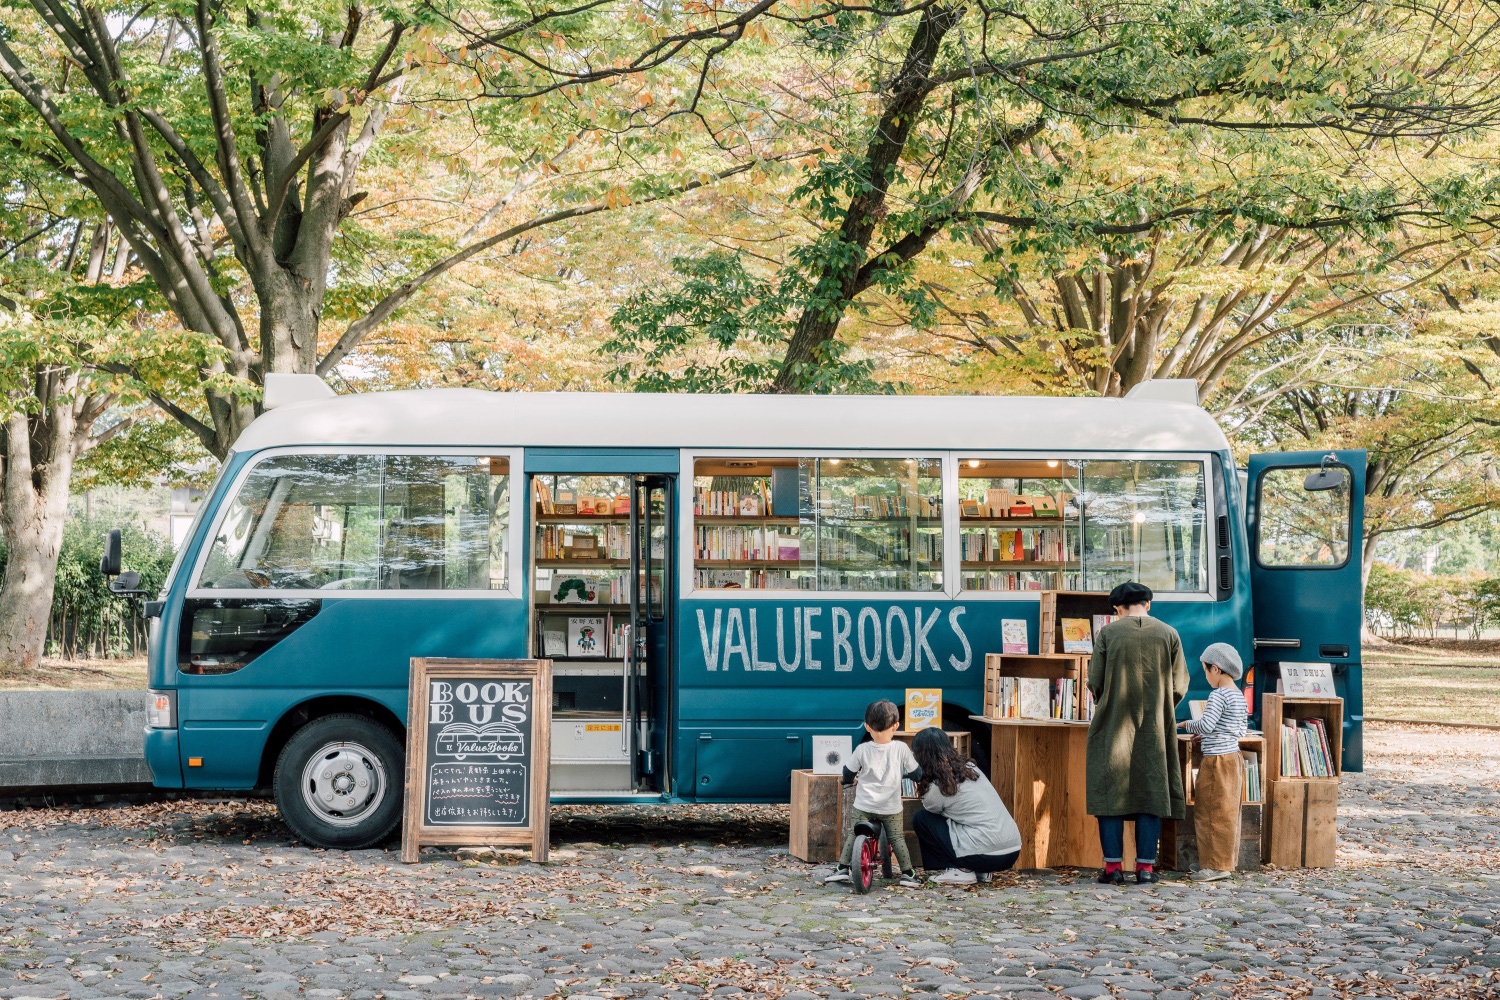
[{"label": "long white roof of the blue bus", "polygon": [[296,445],[1202,453],[1228,441],[1203,408],[1156,399],[424,388],[288,400],[234,450]]}]

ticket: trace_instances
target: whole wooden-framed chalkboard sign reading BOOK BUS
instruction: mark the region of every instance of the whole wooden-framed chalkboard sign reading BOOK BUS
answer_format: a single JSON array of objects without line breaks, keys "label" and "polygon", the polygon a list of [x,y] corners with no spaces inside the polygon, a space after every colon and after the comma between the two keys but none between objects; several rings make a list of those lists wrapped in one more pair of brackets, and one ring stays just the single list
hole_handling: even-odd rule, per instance
[{"label": "whole wooden-framed chalkboard sign reading BOOK BUS", "polygon": [[513,844],[548,859],[550,660],[412,657],[400,859]]}]

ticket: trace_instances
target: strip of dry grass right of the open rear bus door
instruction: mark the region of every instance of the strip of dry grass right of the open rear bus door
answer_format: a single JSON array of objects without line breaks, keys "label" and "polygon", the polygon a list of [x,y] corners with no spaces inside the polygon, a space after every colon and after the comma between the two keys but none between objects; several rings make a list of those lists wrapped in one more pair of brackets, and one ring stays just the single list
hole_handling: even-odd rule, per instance
[{"label": "strip of dry grass right of the open rear bus door", "polygon": [[1500,658],[1458,666],[1450,658],[1383,663],[1365,654],[1365,715],[1500,726]]}]

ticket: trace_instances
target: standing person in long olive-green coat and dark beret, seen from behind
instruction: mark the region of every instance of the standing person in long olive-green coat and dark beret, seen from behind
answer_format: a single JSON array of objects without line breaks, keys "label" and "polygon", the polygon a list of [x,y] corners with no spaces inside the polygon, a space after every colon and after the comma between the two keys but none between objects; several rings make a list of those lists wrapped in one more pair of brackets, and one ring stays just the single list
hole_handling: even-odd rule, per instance
[{"label": "standing person in long olive-green coat and dark beret, seen from behind", "polygon": [[1136,822],[1136,882],[1158,882],[1161,820],[1186,808],[1178,766],[1178,703],[1188,693],[1182,639],[1150,610],[1150,588],[1110,591],[1119,616],[1100,630],[1089,663],[1089,816],[1100,820],[1100,882],[1125,885],[1125,820]]}]

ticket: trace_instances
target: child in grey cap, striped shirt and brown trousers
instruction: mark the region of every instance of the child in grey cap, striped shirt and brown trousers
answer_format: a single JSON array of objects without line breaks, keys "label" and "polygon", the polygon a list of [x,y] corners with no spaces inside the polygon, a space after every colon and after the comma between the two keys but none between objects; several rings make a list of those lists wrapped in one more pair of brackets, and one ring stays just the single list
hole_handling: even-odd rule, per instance
[{"label": "child in grey cap, striped shirt and brown trousers", "polygon": [[1194,882],[1218,882],[1239,867],[1239,804],[1245,795],[1245,757],[1239,753],[1239,738],[1245,735],[1246,714],[1238,682],[1245,667],[1226,642],[1214,643],[1198,660],[1214,690],[1203,715],[1179,723],[1203,745],[1192,804],[1200,867],[1190,877]]}]

